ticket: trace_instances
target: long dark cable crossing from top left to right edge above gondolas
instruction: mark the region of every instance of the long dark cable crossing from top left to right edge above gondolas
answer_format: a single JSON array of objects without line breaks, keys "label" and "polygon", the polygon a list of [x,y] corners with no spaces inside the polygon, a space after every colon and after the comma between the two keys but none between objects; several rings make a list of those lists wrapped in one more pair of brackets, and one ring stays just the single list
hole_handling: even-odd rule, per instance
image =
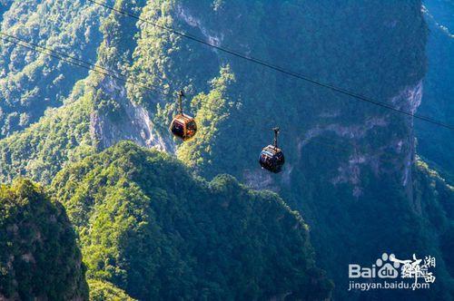
[{"label": "long dark cable crossing from top left to right edge above gondolas", "polygon": [[151,22],[149,20],[143,19],[142,17],[140,17],[138,15],[133,15],[133,14],[125,12],[125,11],[123,11],[121,9],[115,8],[114,6],[104,5],[103,3],[100,3],[100,2],[97,2],[97,1],[94,1],[94,0],[87,0],[87,1],[93,3],[94,5],[103,6],[104,8],[112,10],[112,11],[114,11],[117,14],[132,17],[135,20],[141,21],[141,22],[146,23],[146,24],[151,24],[151,25],[153,25],[153,26],[155,26],[157,28],[163,29],[163,30],[168,31],[170,33],[177,34],[179,36],[182,36],[182,37],[187,38],[189,40],[192,40],[194,42],[197,42],[197,43],[204,44],[206,46],[212,47],[214,49],[222,51],[223,53],[231,54],[233,56],[242,58],[243,60],[247,60],[247,61],[250,61],[252,63],[258,63],[258,64],[260,64],[260,65],[262,65],[262,66],[264,66],[266,68],[269,68],[269,69],[272,69],[272,70],[277,71],[279,73],[284,73],[284,74],[287,74],[287,75],[292,76],[294,78],[298,78],[298,79],[301,79],[303,81],[306,81],[306,82],[321,86],[321,87],[329,89],[329,90],[331,90],[333,92],[339,92],[341,94],[348,95],[352,99],[355,99],[357,101],[369,102],[369,103],[371,103],[373,105],[376,105],[376,106],[379,106],[381,108],[388,109],[388,110],[393,111],[393,112],[399,112],[401,114],[413,117],[415,119],[419,119],[421,121],[427,121],[429,123],[432,123],[432,124],[438,125],[440,127],[446,128],[446,129],[448,129],[450,131],[454,131],[454,126],[453,125],[446,124],[446,123],[444,123],[442,121],[437,121],[435,119],[429,118],[429,117],[424,116],[424,115],[419,115],[419,114],[415,114],[415,113],[412,113],[412,112],[408,112],[408,111],[402,110],[400,108],[396,108],[396,107],[394,107],[394,106],[392,106],[392,105],[390,105],[390,104],[388,104],[386,102],[380,102],[380,101],[373,100],[373,99],[371,99],[369,97],[361,95],[360,93],[351,92],[351,91],[349,91],[347,89],[343,89],[343,88],[337,87],[337,86],[332,85],[330,83],[322,83],[321,81],[312,79],[311,77],[309,77],[307,75],[304,75],[304,74],[301,74],[301,73],[295,73],[295,72],[286,70],[286,69],[284,69],[283,67],[281,67],[279,65],[268,63],[268,62],[263,61],[261,59],[255,58],[253,56],[250,56],[250,55],[247,55],[247,54],[244,54],[244,53],[240,53],[238,51],[235,51],[235,50],[232,50],[232,49],[229,49],[229,48],[224,48],[224,47],[218,46],[216,44],[212,44],[210,42],[206,42],[204,39],[202,39],[200,37],[197,37],[197,36],[192,35],[192,34],[185,34],[183,32],[180,32],[178,30],[173,29],[170,26],[153,23],[153,22]]}]

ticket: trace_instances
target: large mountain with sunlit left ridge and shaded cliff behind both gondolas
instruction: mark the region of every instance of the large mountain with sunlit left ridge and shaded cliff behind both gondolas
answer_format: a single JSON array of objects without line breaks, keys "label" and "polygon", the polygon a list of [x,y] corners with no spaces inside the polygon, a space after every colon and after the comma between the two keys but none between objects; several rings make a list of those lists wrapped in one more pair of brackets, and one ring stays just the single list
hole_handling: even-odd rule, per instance
[{"label": "large mountain with sunlit left ridge and shaded cliff behind both gondolas", "polygon": [[[416,112],[421,101],[428,32],[416,0],[114,5],[405,111]],[[415,165],[410,118],[266,71],[152,25],[96,12],[102,23],[97,63],[128,73],[134,83],[156,85],[159,93],[90,73],[64,107],[0,141],[2,180],[26,175],[49,183],[68,162],[117,141],[135,141],[176,153],[208,180],[227,172],[254,188],[279,192],[311,226],[318,262],[334,277],[340,298],[355,297],[344,292],[348,264],[370,263],[384,250],[408,257],[437,254],[443,276],[429,295],[420,297],[450,297],[452,189],[443,180],[431,180],[423,164]],[[189,95],[185,110],[201,125],[196,138],[184,144],[167,129],[173,96],[161,94],[182,88]],[[282,175],[271,176],[257,168],[256,157],[271,141],[271,126],[278,124],[288,163]],[[362,247],[365,242],[368,246]],[[390,297],[387,293],[378,297]]]}]

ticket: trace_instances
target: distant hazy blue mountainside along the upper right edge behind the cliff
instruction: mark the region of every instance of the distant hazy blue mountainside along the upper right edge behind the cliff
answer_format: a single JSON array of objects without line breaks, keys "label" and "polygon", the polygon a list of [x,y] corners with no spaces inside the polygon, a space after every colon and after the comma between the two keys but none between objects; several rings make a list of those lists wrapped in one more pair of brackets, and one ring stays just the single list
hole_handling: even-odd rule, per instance
[{"label": "distant hazy blue mountainside along the upper right edge behind the cliff", "polygon": [[[429,26],[429,70],[419,112],[454,124],[454,2],[425,1],[423,12]],[[452,131],[434,131],[421,123],[416,124],[416,136],[419,154],[454,181],[454,153],[445,151],[454,148]]]}]

